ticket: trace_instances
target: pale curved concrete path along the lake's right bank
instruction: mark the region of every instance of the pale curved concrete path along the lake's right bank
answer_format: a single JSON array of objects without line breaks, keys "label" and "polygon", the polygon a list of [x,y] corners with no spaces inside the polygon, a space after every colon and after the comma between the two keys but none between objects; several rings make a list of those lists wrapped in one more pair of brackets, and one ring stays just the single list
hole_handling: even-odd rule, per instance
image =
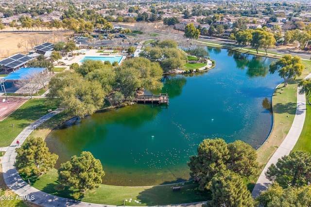
[{"label": "pale curved concrete path along the lake's right bank", "polygon": [[276,152],[272,155],[262,170],[252,191],[252,196],[254,198],[259,196],[261,191],[267,190],[269,185],[272,184],[272,181],[268,180],[265,175],[265,172],[268,170],[270,165],[276,164],[279,158],[282,158],[285,155],[289,155],[300,136],[306,118],[306,95],[299,95],[299,89],[300,88],[297,89],[297,108],[292,127],[281,145],[277,148]]}]

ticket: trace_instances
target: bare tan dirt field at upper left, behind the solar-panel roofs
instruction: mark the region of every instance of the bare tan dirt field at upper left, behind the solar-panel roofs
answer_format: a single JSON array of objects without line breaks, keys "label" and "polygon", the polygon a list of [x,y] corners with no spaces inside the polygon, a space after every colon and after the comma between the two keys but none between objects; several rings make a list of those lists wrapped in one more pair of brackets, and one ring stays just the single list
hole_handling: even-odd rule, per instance
[{"label": "bare tan dirt field at upper left, behind the solar-panel roofs", "polygon": [[65,41],[67,36],[69,32],[12,32],[12,28],[6,28],[0,32],[0,59],[17,53],[27,54],[27,50],[30,51],[44,42]]}]

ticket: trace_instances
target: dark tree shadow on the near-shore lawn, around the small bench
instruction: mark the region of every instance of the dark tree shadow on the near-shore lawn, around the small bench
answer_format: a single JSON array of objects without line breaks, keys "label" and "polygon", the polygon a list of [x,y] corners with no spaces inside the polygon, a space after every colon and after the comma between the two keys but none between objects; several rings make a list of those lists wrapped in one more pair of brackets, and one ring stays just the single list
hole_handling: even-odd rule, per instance
[{"label": "dark tree shadow on the near-shore lawn, around the small bench", "polygon": [[[212,199],[210,191],[198,190],[197,182],[188,181],[183,184],[154,186],[140,192],[137,197],[138,201],[147,206],[156,206],[203,202]],[[173,187],[180,187],[180,189],[173,190]]]}]

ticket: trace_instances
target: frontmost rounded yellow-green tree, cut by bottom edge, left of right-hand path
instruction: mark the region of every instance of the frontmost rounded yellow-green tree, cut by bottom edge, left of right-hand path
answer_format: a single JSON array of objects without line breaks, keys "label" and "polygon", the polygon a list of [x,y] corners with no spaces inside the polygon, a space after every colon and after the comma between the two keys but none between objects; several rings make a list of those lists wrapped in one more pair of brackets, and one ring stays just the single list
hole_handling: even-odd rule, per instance
[{"label": "frontmost rounded yellow-green tree, cut by bottom edge, left of right-hand path", "polygon": [[241,176],[231,171],[221,171],[211,180],[213,198],[202,207],[253,207],[254,199]]}]

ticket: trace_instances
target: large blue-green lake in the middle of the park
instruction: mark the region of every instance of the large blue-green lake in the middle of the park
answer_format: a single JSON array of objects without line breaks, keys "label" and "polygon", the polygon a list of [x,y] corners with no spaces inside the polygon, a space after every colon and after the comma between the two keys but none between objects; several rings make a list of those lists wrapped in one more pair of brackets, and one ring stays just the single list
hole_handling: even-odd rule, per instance
[{"label": "large blue-green lake in the middle of the park", "polygon": [[56,167],[90,151],[103,164],[104,184],[149,186],[188,180],[187,161],[203,139],[242,140],[258,148],[273,122],[267,102],[282,82],[268,72],[274,60],[207,49],[215,68],[164,79],[169,107],[136,104],[53,130],[46,142],[59,155]]}]

